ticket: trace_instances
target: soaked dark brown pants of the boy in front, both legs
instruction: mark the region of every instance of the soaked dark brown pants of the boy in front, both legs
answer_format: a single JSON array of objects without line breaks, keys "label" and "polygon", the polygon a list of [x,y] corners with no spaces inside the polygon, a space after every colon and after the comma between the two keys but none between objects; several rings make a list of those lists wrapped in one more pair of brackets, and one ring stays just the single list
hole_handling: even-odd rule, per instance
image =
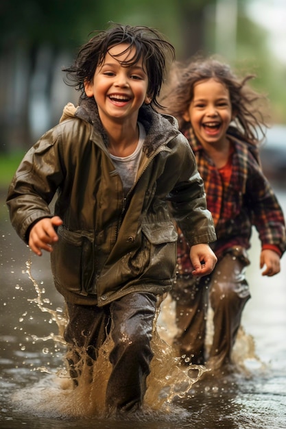
[{"label": "soaked dark brown pants of the boy in front, both legs", "polygon": [[[130,293],[104,307],[67,303],[69,323],[64,339],[74,347],[84,347],[96,360],[99,347],[111,333],[112,372],[106,389],[106,408],[129,411],[139,408],[146,391],[146,378],[153,357],[150,341],[156,313],[156,295]],[[75,369],[72,359],[71,376]],[[74,374],[75,375],[75,374]]]}]

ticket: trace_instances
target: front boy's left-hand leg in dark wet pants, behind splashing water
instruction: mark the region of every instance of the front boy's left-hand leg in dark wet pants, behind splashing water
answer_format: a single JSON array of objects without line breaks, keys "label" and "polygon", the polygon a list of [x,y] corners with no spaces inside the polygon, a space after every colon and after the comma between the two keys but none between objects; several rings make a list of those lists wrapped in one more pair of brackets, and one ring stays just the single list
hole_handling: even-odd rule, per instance
[{"label": "front boy's left-hand leg in dark wet pants, behind splashing water", "polygon": [[[69,344],[67,361],[69,372],[75,385],[81,373],[81,361],[86,359],[92,365],[97,359],[99,347],[106,340],[108,333],[108,308],[97,306],[81,306],[67,303],[68,324],[64,331],[64,339]],[[83,356],[83,353],[86,354]]]}]

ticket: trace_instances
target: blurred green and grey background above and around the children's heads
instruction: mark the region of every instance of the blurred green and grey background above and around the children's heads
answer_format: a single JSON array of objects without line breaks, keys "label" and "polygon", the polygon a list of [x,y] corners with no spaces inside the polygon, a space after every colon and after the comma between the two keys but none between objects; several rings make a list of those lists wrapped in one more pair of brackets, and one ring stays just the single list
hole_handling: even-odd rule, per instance
[{"label": "blurred green and grey background above and around the children's heads", "polygon": [[156,27],[175,46],[177,60],[216,53],[235,70],[257,75],[252,85],[268,96],[272,123],[279,125],[271,137],[279,166],[268,165],[267,154],[266,173],[285,175],[285,0],[1,0],[2,188],[25,151],[58,123],[67,101],[77,102],[62,68],[108,21]]}]

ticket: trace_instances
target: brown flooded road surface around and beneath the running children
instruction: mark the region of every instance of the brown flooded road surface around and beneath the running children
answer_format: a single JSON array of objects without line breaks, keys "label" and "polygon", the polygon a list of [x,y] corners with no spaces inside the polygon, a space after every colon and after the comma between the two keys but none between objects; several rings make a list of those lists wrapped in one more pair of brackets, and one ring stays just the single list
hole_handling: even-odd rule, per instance
[{"label": "brown flooded road surface around and beneath the running children", "polygon": [[[286,212],[285,190],[277,191],[277,195]],[[32,256],[16,236],[3,197],[0,198],[1,428],[134,429],[134,425],[138,429],[286,428],[286,256],[282,259],[281,273],[274,278],[262,277],[259,241],[254,233],[252,264],[247,276],[252,299],[243,313],[246,335],[237,342],[237,361],[247,371],[220,380],[199,380],[184,397],[179,398],[178,391],[174,402],[161,411],[151,409],[130,421],[111,421],[81,414],[78,409],[84,410],[84,406],[80,408],[78,403],[90,400],[91,392],[77,397],[75,391],[57,382],[64,369],[65,348],[58,337],[58,326],[64,323],[62,298],[51,280],[49,255]],[[27,273],[29,260],[34,282]],[[160,348],[157,353],[160,354]],[[254,355],[257,357],[253,358]],[[171,376],[170,358],[164,353],[158,357],[165,362],[165,370]],[[150,389],[154,389],[152,384],[155,381],[150,378]],[[61,403],[66,404],[62,412]]]}]

